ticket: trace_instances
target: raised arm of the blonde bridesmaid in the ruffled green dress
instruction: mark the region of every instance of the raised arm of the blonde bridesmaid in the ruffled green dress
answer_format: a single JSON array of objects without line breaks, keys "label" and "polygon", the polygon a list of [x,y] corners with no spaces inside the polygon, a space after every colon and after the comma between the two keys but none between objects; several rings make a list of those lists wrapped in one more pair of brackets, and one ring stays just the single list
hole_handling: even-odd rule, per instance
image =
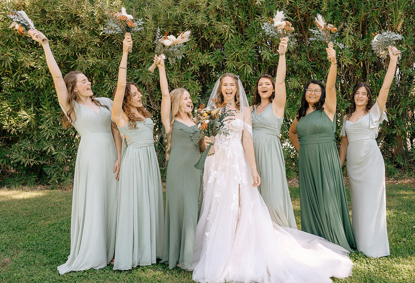
[{"label": "raised arm of the blonde bridesmaid in the ruffled green dress", "polygon": [[[160,59],[160,61],[159,61]],[[159,63],[157,63],[159,62]],[[161,88],[161,122],[163,123],[166,133],[170,132],[171,123],[171,98],[168,92],[168,82],[166,76],[166,67],[164,65],[163,56],[154,56],[154,63],[159,68],[160,73],[160,88]]]}]

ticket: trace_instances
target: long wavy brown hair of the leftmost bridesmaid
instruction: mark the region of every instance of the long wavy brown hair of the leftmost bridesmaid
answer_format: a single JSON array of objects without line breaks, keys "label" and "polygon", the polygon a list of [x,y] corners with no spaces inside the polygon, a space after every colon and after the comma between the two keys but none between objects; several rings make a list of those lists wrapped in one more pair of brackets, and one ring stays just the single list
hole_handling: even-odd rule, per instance
[{"label": "long wavy brown hair of the leftmost bridesmaid", "polygon": [[[81,71],[71,71],[67,73],[66,76],[63,78],[63,82],[65,82],[66,89],[68,90],[68,105],[69,105],[69,110],[66,113],[67,115],[65,115],[63,111],[61,112],[61,118],[63,122],[62,126],[64,128],[70,127],[72,123],[75,122],[76,120],[76,117],[74,118],[71,117],[72,114],[74,113],[75,101],[76,101],[76,94],[73,89],[76,87],[76,83],[78,83],[76,77],[78,74],[81,74],[81,73],[82,73]],[[102,106],[110,110],[107,105],[102,105],[98,100],[94,98],[93,95],[91,95],[89,98],[92,102],[95,103],[95,105]]]}]

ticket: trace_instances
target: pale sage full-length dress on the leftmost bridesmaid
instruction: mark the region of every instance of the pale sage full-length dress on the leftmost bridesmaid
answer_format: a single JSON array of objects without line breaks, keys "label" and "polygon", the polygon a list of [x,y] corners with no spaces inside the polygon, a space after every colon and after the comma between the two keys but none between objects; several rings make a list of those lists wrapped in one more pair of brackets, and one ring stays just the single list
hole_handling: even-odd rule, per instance
[{"label": "pale sage full-length dress on the leftmost bridesmaid", "polygon": [[61,274],[103,268],[114,256],[118,181],[112,172],[117,160],[111,132],[112,100],[95,99],[108,109],[100,107],[95,113],[74,102],[72,124],[81,141],[73,179],[71,252],[68,261],[58,266]]}]

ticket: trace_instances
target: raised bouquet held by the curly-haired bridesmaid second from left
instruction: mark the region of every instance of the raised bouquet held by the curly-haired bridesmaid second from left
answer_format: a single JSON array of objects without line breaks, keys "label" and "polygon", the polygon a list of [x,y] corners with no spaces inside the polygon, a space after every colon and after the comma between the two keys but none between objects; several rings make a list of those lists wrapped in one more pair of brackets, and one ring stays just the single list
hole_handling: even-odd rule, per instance
[{"label": "raised bouquet held by the curly-haired bridesmaid second from left", "polygon": [[[111,12],[104,6],[104,9],[108,12],[108,18],[105,20],[105,26],[101,34],[122,34],[131,36],[132,32],[139,32],[143,27],[143,19],[139,19],[134,22],[134,17],[127,14],[125,7],[121,8],[121,12]],[[129,48],[129,52],[132,49]]]}]

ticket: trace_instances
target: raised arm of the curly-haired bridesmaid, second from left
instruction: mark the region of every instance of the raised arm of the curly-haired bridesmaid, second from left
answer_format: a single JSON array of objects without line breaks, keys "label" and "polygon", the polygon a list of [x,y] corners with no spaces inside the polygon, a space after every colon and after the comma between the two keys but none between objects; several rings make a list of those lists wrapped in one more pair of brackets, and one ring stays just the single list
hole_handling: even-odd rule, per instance
[{"label": "raised arm of the curly-haired bridesmaid, second from left", "polygon": [[129,48],[132,48],[132,39],[131,36],[126,35],[122,41],[122,58],[118,68],[117,90],[115,91],[114,104],[112,104],[111,110],[112,120],[120,127],[124,127],[128,122],[127,115],[122,110],[122,101],[124,100],[125,86],[127,85],[127,56]]}]

